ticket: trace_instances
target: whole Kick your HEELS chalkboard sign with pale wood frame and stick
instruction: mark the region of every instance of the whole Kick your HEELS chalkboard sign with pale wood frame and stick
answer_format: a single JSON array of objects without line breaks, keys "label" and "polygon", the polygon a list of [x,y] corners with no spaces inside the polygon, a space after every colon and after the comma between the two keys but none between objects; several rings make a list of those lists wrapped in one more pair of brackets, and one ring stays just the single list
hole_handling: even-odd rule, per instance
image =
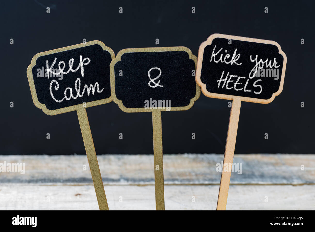
[{"label": "whole Kick your HEELS chalkboard sign with pale wood frame and stick", "polygon": [[[198,52],[196,82],[205,96],[232,100],[224,164],[233,162],[241,101],[270,103],[284,83],[287,57],[270,40],[213,34]],[[222,171],[217,210],[226,209],[231,170]]]}]

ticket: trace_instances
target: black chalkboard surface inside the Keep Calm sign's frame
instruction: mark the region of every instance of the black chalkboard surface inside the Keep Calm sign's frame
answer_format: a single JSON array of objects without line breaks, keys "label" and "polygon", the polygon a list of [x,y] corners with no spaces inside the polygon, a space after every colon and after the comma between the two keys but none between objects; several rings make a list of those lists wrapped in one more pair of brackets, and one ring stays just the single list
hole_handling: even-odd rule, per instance
[{"label": "black chalkboard surface inside the Keep Calm sign's frame", "polygon": [[[83,63],[87,63],[88,61],[84,61],[85,58],[89,58],[90,62],[87,65],[83,64],[84,69],[84,77],[81,75],[81,69],[79,68],[76,72],[68,72],[67,74],[63,74],[63,78],[59,80],[57,77],[37,77],[37,69],[42,69],[46,67],[46,60],[48,60],[49,67],[53,64],[54,59],[56,62],[53,69],[58,68],[58,64],[60,61],[64,61],[66,63],[64,72],[69,70],[69,60],[73,59],[72,70],[76,70],[79,62],[80,55],[82,55]],[[82,48],[71,49],[67,51],[62,51],[54,54],[43,55],[37,58],[36,65],[32,68],[33,80],[36,88],[38,101],[45,106],[49,110],[60,109],[64,107],[74,106],[78,104],[82,104],[83,102],[97,101],[101,99],[106,99],[111,96],[111,86],[110,86],[110,71],[109,65],[111,64],[112,57],[108,51],[104,51],[103,48],[99,44],[93,44],[89,46],[85,46]],[[60,66],[63,67],[62,65]],[[50,83],[52,80],[56,80],[58,82],[58,90],[55,90],[56,83],[52,84],[52,92],[53,96],[57,100],[61,100],[65,97],[64,91],[67,87],[72,88],[73,96],[77,96],[77,92],[75,90],[75,82],[77,78],[80,78],[80,90],[79,93],[82,94],[83,97],[78,96],[77,99],[71,98],[70,100],[64,99],[61,102],[56,102],[50,95]],[[99,83],[99,90],[102,90],[100,93],[97,92],[97,86],[95,88],[95,93],[92,91],[88,96],[88,91],[84,88],[85,85],[92,84],[95,86],[95,83]],[[67,96],[70,96],[70,90],[67,92]]]}]

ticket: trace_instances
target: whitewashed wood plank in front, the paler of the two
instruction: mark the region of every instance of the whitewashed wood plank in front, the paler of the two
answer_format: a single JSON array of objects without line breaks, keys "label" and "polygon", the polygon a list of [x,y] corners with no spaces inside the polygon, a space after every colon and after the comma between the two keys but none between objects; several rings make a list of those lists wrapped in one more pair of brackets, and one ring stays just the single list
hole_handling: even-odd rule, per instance
[{"label": "whitewashed wood plank in front, the paler of the two", "polygon": [[[219,185],[164,188],[165,210],[216,208]],[[226,210],[314,210],[314,190],[314,185],[231,185]],[[155,210],[154,185],[105,185],[105,191],[111,210]],[[93,184],[5,183],[0,186],[0,210],[98,210],[98,204]]]}]

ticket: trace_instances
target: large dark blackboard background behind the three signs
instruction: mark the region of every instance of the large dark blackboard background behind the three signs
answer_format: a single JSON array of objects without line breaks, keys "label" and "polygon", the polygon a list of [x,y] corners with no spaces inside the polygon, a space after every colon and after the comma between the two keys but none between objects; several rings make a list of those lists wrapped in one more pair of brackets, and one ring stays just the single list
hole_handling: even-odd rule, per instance
[{"label": "large dark blackboard background behind the three signs", "polygon": [[[76,112],[49,116],[33,105],[26,68],[36,53],[86,38],[102,41],[115,54],[124,48],[186,46],[198,55],[213,33],[274,40],[288,58],[283,92],[273,102],[242,103],[235,153],[314,153],[313,9],[311,1],[3,2],[0,154],[85,153]],[[202,94],[190,110],[162,112],[163,153],[224,153],[229,112],[227,100]],[[114,102],[87,113],[97,154],[153,153],[150,113],[124,113]]]}]

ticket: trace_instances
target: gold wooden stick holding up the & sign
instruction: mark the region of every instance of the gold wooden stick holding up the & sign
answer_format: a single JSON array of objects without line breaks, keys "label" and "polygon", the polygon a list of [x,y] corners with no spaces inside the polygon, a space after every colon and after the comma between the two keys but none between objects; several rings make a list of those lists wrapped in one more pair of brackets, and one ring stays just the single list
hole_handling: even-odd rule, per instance
[{"label": "gold wooden stick holding up the & sign", "polygon": [[154,151],[155,207],[156,210],[165,210],[161,111],[152,110],[152,126]]}]

